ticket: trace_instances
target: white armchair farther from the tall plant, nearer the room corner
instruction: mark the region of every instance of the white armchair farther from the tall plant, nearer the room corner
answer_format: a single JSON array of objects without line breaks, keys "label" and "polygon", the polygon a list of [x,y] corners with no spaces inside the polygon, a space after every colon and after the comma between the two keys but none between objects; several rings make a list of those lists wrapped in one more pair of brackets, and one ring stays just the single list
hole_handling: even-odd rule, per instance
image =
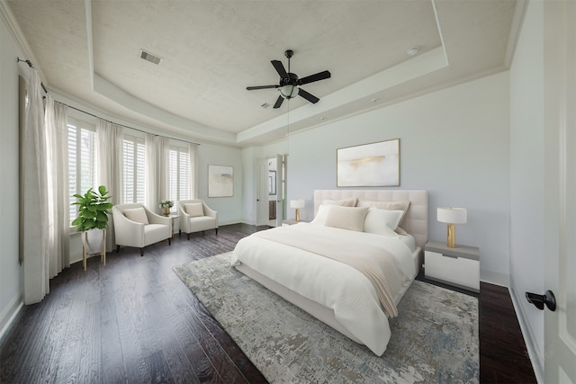
[{"label": "white armchair farther from the tall plant, nearer the room corner", "polygon": [[201,199],[178,201],[179,234],[184,231],[188,240],[193,232],[215,229],[218,236],[218,212],[211,210]]}]

